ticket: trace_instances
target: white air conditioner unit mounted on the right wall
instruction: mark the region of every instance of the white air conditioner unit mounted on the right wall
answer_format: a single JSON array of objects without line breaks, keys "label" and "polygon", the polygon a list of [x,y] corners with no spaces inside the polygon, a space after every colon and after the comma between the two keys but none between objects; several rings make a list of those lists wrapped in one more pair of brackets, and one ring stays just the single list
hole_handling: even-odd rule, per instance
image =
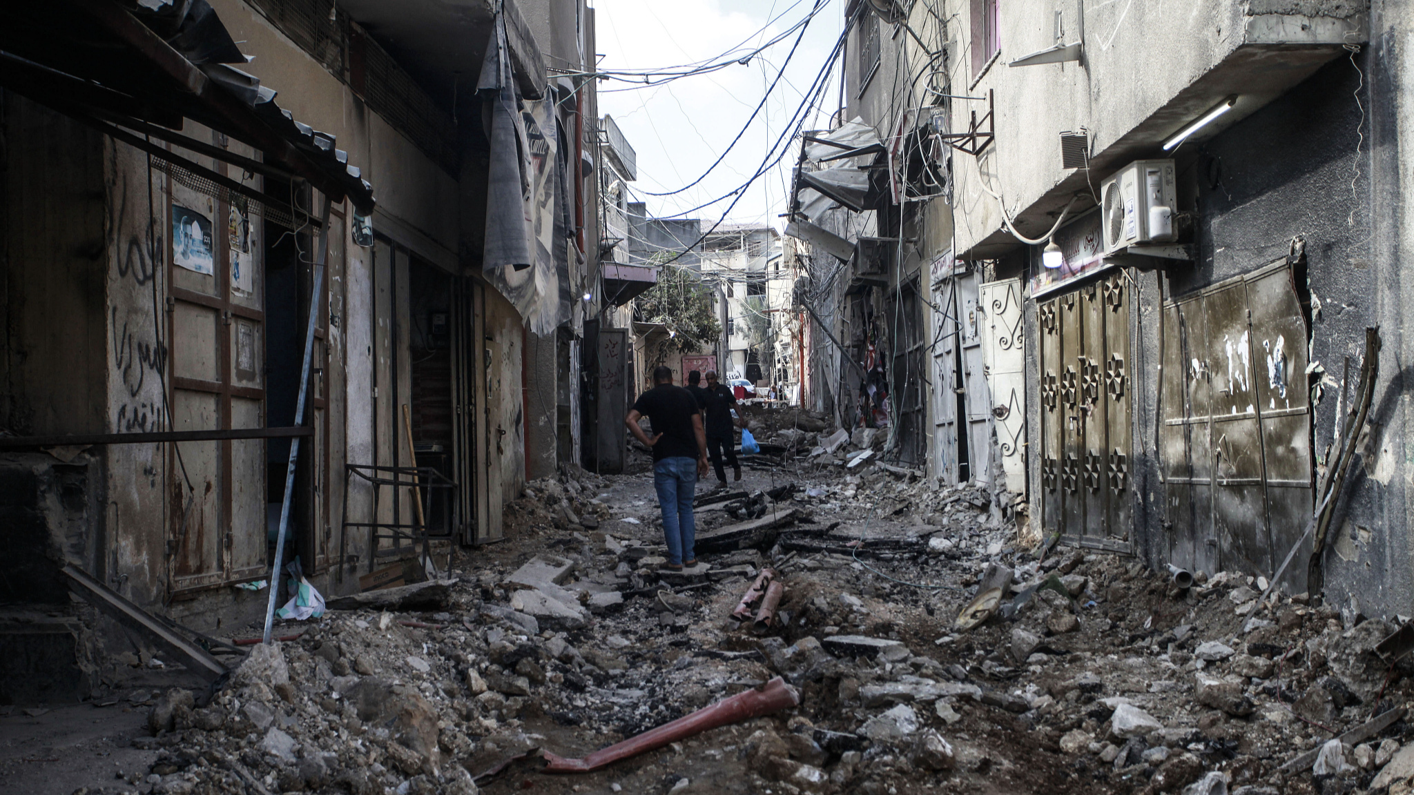
[{"label": "white air conditioner unit mounted on the right wall", "polygon": [[1174,161],[1135,160],[1100,182],[1104,253],[1172,242]]}]

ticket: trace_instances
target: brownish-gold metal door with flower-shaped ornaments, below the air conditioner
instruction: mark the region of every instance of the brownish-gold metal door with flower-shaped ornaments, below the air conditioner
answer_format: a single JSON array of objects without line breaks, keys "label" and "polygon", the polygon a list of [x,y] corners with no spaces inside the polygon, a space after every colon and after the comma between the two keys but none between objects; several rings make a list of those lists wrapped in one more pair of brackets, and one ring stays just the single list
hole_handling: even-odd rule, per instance
[{"label": "brownish-gold metal door with flower-shaped ornaments, below the air conditioner", "polygon": [[1113,273],[1038,303],[1045,535],[1130,552],[1130,291]]}]

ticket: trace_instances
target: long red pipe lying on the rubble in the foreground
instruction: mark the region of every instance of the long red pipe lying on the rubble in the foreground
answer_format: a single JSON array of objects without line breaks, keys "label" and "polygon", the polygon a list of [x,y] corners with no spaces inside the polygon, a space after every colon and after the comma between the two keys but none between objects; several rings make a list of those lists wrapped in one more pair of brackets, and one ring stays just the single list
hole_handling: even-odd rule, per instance
[{"label": "long red pipe lying on the rubble in the foreground", "polygon": [[703,707],[693,714],[680,717],[636,737],[629,737],[608,748],[594,751],[581,760],[567,760],[544,751],[544,761],[550,762],[546,765],[544,772],[592,772],[617,761],[646,754],[648,751],[686,740],[703,731],[766,716],[799,703],[800,695],[796,693],[796,689],[776,676],[759,689],[744,690],[730,699],[723,699],[715,704]]}]

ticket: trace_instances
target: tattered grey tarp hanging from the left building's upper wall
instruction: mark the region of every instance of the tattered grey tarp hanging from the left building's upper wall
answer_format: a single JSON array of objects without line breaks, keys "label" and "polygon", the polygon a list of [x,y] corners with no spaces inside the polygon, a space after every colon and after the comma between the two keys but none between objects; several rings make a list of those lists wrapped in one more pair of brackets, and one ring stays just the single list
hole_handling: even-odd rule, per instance
[{"label": "tattered grey tarp hanging from the left building's upper wall", "polygon": [[560,323],[556,273],[556,164],[559,129],[554,95],[523,102],[510,71],[505,21],[486,45],[477,89],[491,109],[486,177],[486,240],[482,270],[530,331],[546,335]]}]

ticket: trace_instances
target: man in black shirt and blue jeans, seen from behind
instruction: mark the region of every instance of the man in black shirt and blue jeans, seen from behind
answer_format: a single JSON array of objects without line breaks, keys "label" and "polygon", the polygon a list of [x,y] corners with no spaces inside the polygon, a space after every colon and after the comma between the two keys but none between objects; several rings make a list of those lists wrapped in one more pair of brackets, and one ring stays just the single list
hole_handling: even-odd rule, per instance
[{"label": "man in black shirt and blue jeans, seen from behind", "polygon": [[[624,424],[653,450],[653,488],[663,512],[667,569],[682,571],[683,566],[697,566],[693,492],[697,475],[707,474],[707,439],[697,399],[682,386],[673,386],[673,369],[655,368],[653,385],[633,403]],[[653,426],[652,439],[638,424],[645,414]]]}]

